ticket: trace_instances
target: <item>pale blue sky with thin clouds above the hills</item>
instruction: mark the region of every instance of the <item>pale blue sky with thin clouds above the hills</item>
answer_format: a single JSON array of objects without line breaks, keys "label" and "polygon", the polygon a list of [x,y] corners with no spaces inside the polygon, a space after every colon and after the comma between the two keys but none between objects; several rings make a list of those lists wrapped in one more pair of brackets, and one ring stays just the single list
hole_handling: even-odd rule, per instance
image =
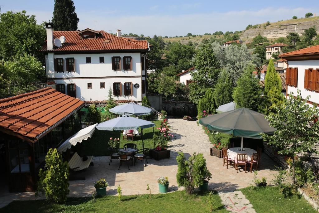
[{"label": "pale blue sky with thin clouds above the hills", "polygon": [[[318,0],[281,1],[83,1],[74,0],[80,30],[87,27],[115,33],[175,36],[243,30],[249,24],[319,15]],[[1,1],[2,12],[26,10],[39,23],[52,17],[53,0]]]}]

